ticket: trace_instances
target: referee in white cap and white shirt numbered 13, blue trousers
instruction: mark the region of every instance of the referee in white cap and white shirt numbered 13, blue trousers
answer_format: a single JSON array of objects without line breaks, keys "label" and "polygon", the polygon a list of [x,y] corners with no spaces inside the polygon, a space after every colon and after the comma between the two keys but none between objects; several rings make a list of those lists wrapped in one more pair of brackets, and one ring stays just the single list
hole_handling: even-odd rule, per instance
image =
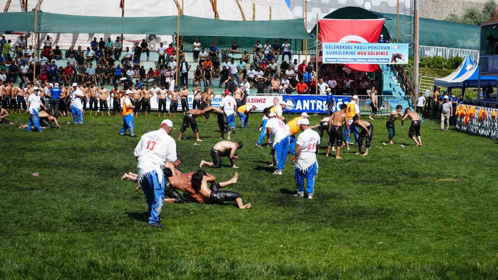
[{"label": "referee in white cap and white shirt numbered 13, blue trousers", "polygon": [[140,184],[149,211],[148,226],[162,228],[159,214],[164,203],[164,188],[169,180],[164,177],[162,168],[167,162],[177,159],[176,142],[169,134],[173,128],[170,120],[161,122],[158,130],[144,134],[135,147],[133,154],[137,160],[137,182]]}]

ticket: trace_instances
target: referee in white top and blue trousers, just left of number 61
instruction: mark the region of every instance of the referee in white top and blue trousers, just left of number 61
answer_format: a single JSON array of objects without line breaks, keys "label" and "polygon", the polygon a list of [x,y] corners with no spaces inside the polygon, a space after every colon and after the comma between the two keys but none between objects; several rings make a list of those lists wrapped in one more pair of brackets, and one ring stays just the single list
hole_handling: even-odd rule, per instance
[{"label": "referee in white top and blue trousers, just left of number 61", "polygon": [[275,113],[270,113],[268,119],[268,122],[266,122],[266,140],[268,144],[270,143],[270,136],[273,137],[273,145],[271,147],[273,163],[270,166],[276,167],[273,174],[282,175],[285,159],[289,152],[289,132],[282,120],[276,117]]}]

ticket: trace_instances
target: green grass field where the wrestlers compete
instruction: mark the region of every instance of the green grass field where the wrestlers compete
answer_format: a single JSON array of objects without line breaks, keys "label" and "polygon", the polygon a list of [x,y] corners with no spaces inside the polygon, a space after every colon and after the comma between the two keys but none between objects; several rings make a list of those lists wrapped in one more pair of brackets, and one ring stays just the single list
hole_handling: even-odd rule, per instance
[{"label": "green grass field where the wrestlers compete", "polygon": [[[290,116],[287,116],[290,117]],[[27,123],[27,115],[8,119]],[[163,118],[135,118],[138,136]],[[321,117],[311,118],[312,124]],[[261,114],[234,140],[240,180],[234,204],[165,205],[163,229],[146,227],[143,192],[121,182],[136,170],[139,138],[120,137],[119,117],[43,133],[0,126],[0,278],[3,279],[496,279],[496,141],[422,124],[423,147],[396,122],[373,122],[370,155],[319,154],[313,200],[292,197],[294,168],[271,175],[268,148],[254,145]],[[173,119],[178,136],[181,116]],[[216,119],[198,118],[178,141],[185,171],[198,169],[219,139]],[[239,124],[239,122],[238,122]],[[324,142],[328,136],[324,137]],[[405,145],[404,148],[400,144]],[[322,145],[324,146],[324,145]],[[381,148],[379,148],[381,147]],[[224,181],[234,175],[206,170]],[[31,173],[39,172],[39,177]]]}]

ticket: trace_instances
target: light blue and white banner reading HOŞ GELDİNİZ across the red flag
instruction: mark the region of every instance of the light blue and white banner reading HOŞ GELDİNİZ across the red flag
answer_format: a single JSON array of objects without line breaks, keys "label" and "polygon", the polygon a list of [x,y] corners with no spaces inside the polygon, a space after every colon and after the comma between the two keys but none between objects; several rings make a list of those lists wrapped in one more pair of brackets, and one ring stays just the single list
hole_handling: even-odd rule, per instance
[{"label": "light blue and white banner reading HO\u015e GELD\u0130N\u0130Z across the red flag", "polygon": [[407,64],[408,44],[323,43],[323,62]]}]

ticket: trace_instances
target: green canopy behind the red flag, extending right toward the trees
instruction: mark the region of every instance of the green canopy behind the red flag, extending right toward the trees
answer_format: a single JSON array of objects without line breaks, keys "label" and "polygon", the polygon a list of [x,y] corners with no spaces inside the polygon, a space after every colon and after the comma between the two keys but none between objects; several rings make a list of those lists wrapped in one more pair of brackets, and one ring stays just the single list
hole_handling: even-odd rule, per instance
[{"label": "green canopy behind the red flag, extending right toward the trees", "polygon": [[[396,14],[369,11],[360,7],[344,7],[337,9],[324,18],[337,19],[371,19],[385,18],[384,26],[380,34],[384,35],[385,39],[391,38],[396,42]],[[408,43],[409,37],[403,36],[409,34],[412,16],[399,15],[399,43]],[[403,22],[404,24],[403,28]],[[425,46],[460,48],[460,49],[479,49],[479,25],[462,24],[444,20],[436,20],[430,18],[419,18],[419,44]],[[316,34],[316,26],[311,31]],[[404,41],[403,41],[404,40]],[[308,48],[315,47],[314,42],[308,41]]]}]

